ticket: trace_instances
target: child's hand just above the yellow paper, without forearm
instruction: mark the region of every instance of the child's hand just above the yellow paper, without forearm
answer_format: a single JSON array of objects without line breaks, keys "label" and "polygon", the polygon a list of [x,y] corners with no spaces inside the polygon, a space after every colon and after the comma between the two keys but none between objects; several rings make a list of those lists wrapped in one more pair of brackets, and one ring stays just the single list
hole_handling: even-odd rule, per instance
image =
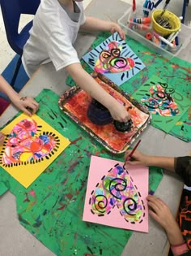
[{"label": "child's hand just above the yellow paper, without forearm", "polygon": [[11,99],[13,104],[29,116],[32,116],[39,109],[39,104],[32,97],[16,97]]}]

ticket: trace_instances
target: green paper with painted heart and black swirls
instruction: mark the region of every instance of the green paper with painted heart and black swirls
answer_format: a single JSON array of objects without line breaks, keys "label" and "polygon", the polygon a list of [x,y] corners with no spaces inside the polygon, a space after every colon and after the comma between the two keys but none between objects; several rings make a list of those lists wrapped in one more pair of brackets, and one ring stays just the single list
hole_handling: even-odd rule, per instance
[{"label": "green paper with painted heart and black swirls", "polygon": [[132,97],[148,108],[151,124],[164,132],[170,132],[190,106],[188,98],[158,76],[147,80]]}]

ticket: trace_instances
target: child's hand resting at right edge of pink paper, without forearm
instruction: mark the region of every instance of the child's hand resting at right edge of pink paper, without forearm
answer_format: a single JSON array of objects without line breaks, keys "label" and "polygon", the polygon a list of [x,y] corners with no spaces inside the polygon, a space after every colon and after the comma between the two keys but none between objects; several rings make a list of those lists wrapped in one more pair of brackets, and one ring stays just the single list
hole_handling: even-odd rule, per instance
[{"label": "child's hand resting at right edge of pink paper, without forearm", "polygon": [[155,221],[157,221],[166,232],[172,230],[176,225],[176,220],[174,219],[171,210],[159,197],[149,195],[146,197],[148,201],[148,206],[151,208],[149,214]]}]

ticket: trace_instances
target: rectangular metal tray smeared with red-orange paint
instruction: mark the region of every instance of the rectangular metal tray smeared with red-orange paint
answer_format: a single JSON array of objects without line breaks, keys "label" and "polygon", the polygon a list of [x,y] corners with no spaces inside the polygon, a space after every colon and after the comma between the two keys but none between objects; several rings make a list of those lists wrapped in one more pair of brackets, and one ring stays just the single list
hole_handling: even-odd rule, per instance
[{"label": "rectangular metal tray smeared with red-orange paint", "polygon": [[104,145],[107,150],[114,154],[121,154],[150,123],[151,114],[145,106],[123,92],[105,76],[98,73],[93,73],[91,76],[121,104],[125,103],[127,108],[132,106],[132,109],[129,109],[129,114],[133,120],[133,128],[129,132],[118,132],[112,123],[104,126],[92,124],[87,118],[87,108],[91,102],[91,96],[79,86],[67,90],[59,99],[58,105],[66,115],[70,116],[101,145]]}]

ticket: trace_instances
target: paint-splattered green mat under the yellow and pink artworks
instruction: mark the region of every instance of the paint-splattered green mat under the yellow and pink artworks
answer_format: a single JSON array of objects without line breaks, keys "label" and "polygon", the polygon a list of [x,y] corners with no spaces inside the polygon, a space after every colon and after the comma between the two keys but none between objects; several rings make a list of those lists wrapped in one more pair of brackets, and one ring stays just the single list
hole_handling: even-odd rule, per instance
[{"label": "paint-splattered green mat under the yellow and pink artworks", "polygon": [[[69,138],[70,145],[28,189],[0,168],[1,181],[15,194],[20,223],[57,256],[120,256],[132,232],[83,222],[83,205],[91,154],[123,161],[108,154],[77,124],[60,111],[57,94],[43,90],[38,115]],[[151,168],[150,189],[155,191],[162,173]],[[120,237],[120,239],[119,239]]]}]

